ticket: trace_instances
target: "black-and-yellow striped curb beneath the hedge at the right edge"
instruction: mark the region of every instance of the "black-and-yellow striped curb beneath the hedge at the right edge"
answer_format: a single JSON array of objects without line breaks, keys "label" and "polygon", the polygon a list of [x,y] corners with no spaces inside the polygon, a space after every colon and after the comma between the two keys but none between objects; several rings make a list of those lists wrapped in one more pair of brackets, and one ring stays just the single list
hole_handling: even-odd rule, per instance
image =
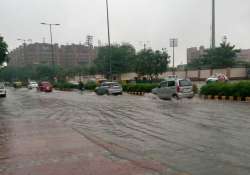
[{"label": "black-and-yellow striped curb beneath the hedge at the right edge", "polygon": [[250,97],[234,97],[234,96],[217,96],[217,95],[200,95],[201,99],[218,100],[218,101],[243,101],[250,102]]}]

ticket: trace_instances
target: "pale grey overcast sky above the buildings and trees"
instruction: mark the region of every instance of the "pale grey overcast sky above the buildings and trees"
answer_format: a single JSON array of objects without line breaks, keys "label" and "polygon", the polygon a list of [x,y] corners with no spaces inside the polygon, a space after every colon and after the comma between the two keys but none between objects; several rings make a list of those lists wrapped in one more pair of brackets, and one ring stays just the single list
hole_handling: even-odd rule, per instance
[{"label": "pale grey overcast sky above the buildings and trees", "polygon": [[[153,49],[167,48],[179,39],[177,63],[186,63],[188,47],[210,46],[211,0],[109,0],[111,41],[129,42],[137,49],[148,42]],[[49,42],[49,30],[41,22],[60,23],[53,29],[54,42],[107,43],[105,0],[0,0],[0,34],[10,49],[17,38]],[[250,48],[250,1],[217,0],[217,44],[227,35],[238,48]]]}]

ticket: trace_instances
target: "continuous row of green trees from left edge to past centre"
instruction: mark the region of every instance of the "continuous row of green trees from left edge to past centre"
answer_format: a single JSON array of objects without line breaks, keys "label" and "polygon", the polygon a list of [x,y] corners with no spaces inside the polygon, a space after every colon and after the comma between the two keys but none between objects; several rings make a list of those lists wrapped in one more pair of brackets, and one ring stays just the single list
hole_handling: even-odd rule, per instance
[{"label": "continuous row of green trees from left edge to past centre", "polygon": [[[170,56],[166,51],[143,49],[136,52],[131,44],[115,44],[99,47],[97,57],[90,65],[63,68],[60,66],[33,65],[26,67],[8,66],[3,69],[0,79],[13,80],[64,80],[66,77],[103,74],[106,77],[136,72],[140,76],[157,78],[168,70]],[[112,71],[112,72],[111,72]]]}]

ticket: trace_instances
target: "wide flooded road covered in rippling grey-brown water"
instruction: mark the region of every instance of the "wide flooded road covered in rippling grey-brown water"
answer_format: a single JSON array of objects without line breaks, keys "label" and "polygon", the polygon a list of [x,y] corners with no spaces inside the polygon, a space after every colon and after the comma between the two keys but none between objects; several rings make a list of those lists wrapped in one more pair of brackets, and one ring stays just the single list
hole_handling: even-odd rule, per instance
[{"label": "wide flooded road covered in rippling grey-brown water", "polygon": [[20,89],[0,112],[1,175],[250,174],[249,103]]}]

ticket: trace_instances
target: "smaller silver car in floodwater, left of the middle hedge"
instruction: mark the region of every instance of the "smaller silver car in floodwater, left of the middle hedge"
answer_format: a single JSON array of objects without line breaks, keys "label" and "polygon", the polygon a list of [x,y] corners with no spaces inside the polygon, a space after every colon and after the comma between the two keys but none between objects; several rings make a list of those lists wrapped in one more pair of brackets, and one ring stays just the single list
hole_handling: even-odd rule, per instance
[{"label": "smaller silver car in floodwater, left of the middle hedge", "polygon": [[98,95],[122,95],[122,86],[117,82],[105,82],[95,89]]}]

